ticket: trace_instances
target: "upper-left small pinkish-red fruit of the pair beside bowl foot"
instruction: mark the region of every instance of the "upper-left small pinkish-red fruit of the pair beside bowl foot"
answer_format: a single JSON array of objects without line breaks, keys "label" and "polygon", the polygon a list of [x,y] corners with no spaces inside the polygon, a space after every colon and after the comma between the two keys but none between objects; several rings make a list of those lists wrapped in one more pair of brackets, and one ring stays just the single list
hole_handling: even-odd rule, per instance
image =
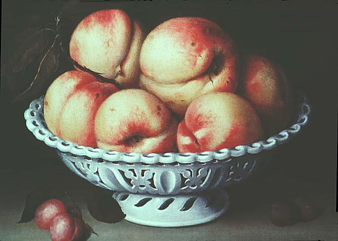
[{"label": "upper-left small pinkish-red fruit of the pair beside bowl foot", "polygon": [[39,228],[49,230],[53,219],[63,213],[67,213],[63,202],[58,199],[50,199],[40,204],[36,209],[34,220]]}]

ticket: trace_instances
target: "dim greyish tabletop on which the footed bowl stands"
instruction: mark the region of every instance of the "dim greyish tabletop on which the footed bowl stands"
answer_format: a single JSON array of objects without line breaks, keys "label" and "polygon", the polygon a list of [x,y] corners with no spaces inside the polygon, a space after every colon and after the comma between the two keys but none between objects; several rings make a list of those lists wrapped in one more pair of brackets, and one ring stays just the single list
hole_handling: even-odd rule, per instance
[{"label": "dim greyish tabletop on which the footed bowl stands", "polygon": [[[55,165],[62,164],[56,154],[50,156]],[[334,175],[334,170],[327,170],[326,177],[330,182],[334,180]],[[90,216],[85,202],[86,191],[90,190],[91,184],[67,169],[2,171],[0,181],[3,194],[0,208],[0,240],[3,241],[49,240],[49,232],[39,229],[34,221],[16,223],[20,219],[28,190],[31,187],[41,186],[41,181],[47,186],[66,187],[71,197],[78,202],[83,219],[100,235],[99,237],[91,235],[89,240],[336,240],[338,238],[335,186],[329,181],[318,183],[294,180],[297,187],[291,188],[294,184],[290,180],[277,184],[266,175],[261,180],[253,178],[251,183],[243,183],[229,189],[230,208],[220,218],[206,224],[177,228],[142,226],[125,220],[116,224],[95,220]],[[273,191],[273,188],[283,188],[284,190],[280,191],[288,197],[306,194],[322,209],[321,215],[307,223],[287,227],[274,226],[268,219],[268,211],[271,202],[274,198],[278,200],[280,194]],[[285,188],[289,188],[288,191],[285,191]]]}]

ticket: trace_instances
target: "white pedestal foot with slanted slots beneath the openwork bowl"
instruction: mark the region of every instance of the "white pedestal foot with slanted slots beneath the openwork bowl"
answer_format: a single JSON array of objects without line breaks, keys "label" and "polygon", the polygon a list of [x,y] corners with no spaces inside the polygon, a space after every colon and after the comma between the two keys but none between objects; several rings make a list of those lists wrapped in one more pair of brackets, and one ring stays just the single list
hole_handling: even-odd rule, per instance
[{"label": "white pedestal foot with slanted slots beneath the openwork bowl", "polygon": [[206,223],[220,217],[229,207],[229,196],[220,188],[174,196],[115,192],[113,198],[126,214],[125,220],[155,227]]}]

